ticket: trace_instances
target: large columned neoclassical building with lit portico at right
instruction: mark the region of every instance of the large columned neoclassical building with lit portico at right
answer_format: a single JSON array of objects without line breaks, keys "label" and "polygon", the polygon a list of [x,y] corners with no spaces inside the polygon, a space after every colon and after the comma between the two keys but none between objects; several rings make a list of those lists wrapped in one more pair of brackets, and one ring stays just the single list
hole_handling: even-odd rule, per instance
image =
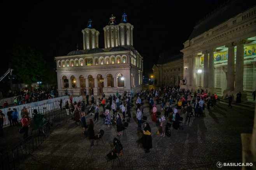
[{"label": "large columned neoclassical building with lit portico at right", "polygon": [[[239,7],[238,7],[239,6]],[[256,7],[230,1],[196,24],[184,43],[185,88],[207,89],[223,98],[256,89]]]}]

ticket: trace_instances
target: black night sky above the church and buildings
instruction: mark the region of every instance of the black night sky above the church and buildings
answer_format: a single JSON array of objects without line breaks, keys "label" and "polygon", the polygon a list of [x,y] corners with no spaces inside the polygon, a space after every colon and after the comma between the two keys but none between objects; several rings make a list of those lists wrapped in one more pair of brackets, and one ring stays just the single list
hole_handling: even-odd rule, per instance
[{"label": "black night sky above the church and buildings", "polygon": [[[161,52],[179,53],[193,31],[195,21],[224,2],[5,0],[0,3],[1,58],[9,57],[16,45],[29,45],[41,51],[46,63],[56,68],[55,56],[76,50],[77,43],[82,50],[81,30],[86,28],[88,19],[92,19],[94,28],[100,31],[99,47],[104,48],[103,27],[109,23],[111,14],[116,16],[117,24],[120,23],[125,9],[128,23],[134,26],[133,46],[144,57],[144,73],[151,73]],[[1,74],[7,68],[8,64],[2,62]]]}]

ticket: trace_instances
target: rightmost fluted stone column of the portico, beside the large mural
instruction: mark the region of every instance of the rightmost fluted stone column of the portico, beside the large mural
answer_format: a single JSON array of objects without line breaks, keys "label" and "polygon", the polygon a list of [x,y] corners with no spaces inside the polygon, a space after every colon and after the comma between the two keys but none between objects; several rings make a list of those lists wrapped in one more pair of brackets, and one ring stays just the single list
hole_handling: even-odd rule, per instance
[{"label": "rightmost fluted stone column of the portico, beside the large mural", "polygon": [[246,40],[235,42],[237,45],[237,57],[235,62],[235,90],[243,91],[244,83],[244,44]]}]

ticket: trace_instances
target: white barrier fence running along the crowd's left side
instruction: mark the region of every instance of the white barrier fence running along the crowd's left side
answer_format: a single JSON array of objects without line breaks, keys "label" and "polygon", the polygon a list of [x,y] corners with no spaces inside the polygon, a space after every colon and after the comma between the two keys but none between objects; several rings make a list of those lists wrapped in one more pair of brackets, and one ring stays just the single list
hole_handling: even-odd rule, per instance
[{"label": "white barrier fence running along the crowd's left side", "polygon": [[[51,99],[49,99],[51,100]],[[79,102],[82,101],[82,96],[77,96],[77,97],[73,97],[73,102]],[[65,106],[65,103],[66,101],[68,101],[68,104],[70,104],[70,100],[68,98],[63,98],[62,100],[62,106],[61,108],[63,108]],[[25,105],[25,104],[24,104]],[[18,121],[21,121],[22,117],[21,117],[21,110],[23,107],[27,107],[27,106],[23,106],[23,105],[20,105],[22,106],[20,110],[17,110],[18,111]],[[10,107],[11,109],[15,108],[15,106],[13,107]],[[49,113],[50,111],[54,111],[54,110],[57,110],[57,109],[60,109],[60,103],[58,101],[55,100],[55,102],[52,102],[52,103],[44,103],[40,106],[35,106],[35,107],[28,107],[28,112],[29,112],[29,116],[30,118],[33,118],[33,111],[37,109],[38,113],[41,113],[41,114],[46,114],[46,113]],[[8,120],[8,116],[7,116],[7,111],[8,111],[8,108],[4,108],[2,109],[5,117],[4,117],[4,126],[6,125],[10,125],[10,122]]]}]

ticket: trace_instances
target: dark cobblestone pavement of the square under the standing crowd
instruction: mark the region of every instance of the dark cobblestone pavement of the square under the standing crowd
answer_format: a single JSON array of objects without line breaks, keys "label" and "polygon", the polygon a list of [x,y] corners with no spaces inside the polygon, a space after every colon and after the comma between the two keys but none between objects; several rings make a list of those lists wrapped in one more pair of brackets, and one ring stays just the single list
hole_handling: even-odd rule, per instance
[{"label": "dark cobblestone pavement of the square under the standing crowd", "polygon": [[[157,106],[158,111],[160,105]],[[102,113],[102,107],[100,107]],[[163,111],[161,111],[163,114]],[[100,113],[100,114],[101,114]],[[110,112],[112,113],[112,111]],[[216,167],[221,162],[242,162],[242,145],[240,134],[252,133],[252,111],[240,108],[229,109],[221,104],[216,109],[205,109],[205,116],[188,122],[183,121],[184,130],[171,128],[171,137],[161,137],[159,123],[151,121],[147,104],[144,104],[144,116],[148,117],[153,139],[153,148],[145,153],[142,146],[138,147],[137,140],[142,136],[142,130],[137,128],[135,113],[129,122],[129,134],[118,137],[123,144],[121,165],[114,161],[113,169],[120,170],[161,170],[161,169],[220,169]],[[135,117],[134,117],[135,116]],[[184,117],[184,112],[181,114]],[[93,116],[86,116],[86,121]],[[168,120],[169,122],[170,120]],[[106,155],[116,136],[116,125],[109,130],[103,124],[103,119],[95,122],[95,134],[103,129],[104,144],[90,147],[90,141],[82,136],[82,128],[73,120],[62,123],[33,156],[25,160],[19,167],[24,170],[82,170],[111,169],[112,162],[107,163]],[[222,169],[241,169],[229,167]]]}]

